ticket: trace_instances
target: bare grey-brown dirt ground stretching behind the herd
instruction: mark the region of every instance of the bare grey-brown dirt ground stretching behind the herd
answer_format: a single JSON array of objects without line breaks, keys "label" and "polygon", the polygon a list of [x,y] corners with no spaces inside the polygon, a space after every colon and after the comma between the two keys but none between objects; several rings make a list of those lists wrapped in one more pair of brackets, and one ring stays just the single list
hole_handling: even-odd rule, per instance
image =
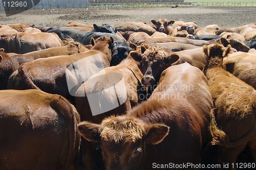
[{"label": "bare grey-brown dirt ground stretching behind the herd", "polygon": [[221,28],[233,28],[254,23],[255,7],[150,7],[150,8],[91,8],[91,9],[50,9],[28,10],[7,17],[0,12],[0,24],[46,23],[49,27],[63,27],[69,21],[102,25],[125,21],[145,21],[161,17],[174,20],[196,21],[199,27],[217,24]]}]

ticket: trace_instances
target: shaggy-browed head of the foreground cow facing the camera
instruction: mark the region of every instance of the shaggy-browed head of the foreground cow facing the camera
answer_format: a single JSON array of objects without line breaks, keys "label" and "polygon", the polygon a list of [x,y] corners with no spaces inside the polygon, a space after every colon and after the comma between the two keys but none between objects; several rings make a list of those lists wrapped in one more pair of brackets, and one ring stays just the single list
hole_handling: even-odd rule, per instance
[{"label": "shaggy-browed head of the foreground cow facing the camera", "polygon": [[127,116],[111,116],[101,125],[82,122],[78,130],[85,139],[100,143],[105,169],[128,170],[140,168],[145,143],[160,143],[168,135],[169,127],[145,125]]}]

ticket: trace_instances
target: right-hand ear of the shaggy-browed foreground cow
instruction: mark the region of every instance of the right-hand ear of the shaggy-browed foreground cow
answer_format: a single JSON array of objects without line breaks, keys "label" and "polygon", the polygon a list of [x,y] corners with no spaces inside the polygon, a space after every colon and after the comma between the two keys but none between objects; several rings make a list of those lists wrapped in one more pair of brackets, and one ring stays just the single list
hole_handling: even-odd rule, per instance
[{"label": "right-hand ear of the shaggy-browed foreground cow", "polygon": [[145,143],[158,144],[160,143],[169,133],[169,127],[163,124],[153,124],[145,128]]}]

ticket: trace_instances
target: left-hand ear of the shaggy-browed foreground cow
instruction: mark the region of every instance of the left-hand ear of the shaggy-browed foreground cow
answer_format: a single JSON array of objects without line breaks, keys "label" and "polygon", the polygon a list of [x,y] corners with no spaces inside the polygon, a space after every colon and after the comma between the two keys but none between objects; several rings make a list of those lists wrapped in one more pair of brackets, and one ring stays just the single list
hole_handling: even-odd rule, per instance
[{"label": "left-hand ear of the shaggy-browed foreground cow", "polygon": [[81,122],[78,124],[78,131],[84,139],[87,139],[92,142],[100,142],[100,125],[93,124],[90,122]]}]

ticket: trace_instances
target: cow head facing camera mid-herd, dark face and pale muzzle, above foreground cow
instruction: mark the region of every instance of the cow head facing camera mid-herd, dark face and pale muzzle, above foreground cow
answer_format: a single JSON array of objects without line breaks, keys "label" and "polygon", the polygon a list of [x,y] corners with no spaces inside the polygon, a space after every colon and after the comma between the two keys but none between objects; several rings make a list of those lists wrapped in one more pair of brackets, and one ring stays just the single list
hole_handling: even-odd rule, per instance
[{"label": "cow head facing camera mid-herd, dark face and pale muzzle, above foreground cow", "polygon": [[136,61],[142,62],[142,80],[145,86],[154,86],[160,79],[162,71],[179,59],[176,54],[168,54],[162,48],[141,46],[141,53],[131,52],[130,55]]}]

